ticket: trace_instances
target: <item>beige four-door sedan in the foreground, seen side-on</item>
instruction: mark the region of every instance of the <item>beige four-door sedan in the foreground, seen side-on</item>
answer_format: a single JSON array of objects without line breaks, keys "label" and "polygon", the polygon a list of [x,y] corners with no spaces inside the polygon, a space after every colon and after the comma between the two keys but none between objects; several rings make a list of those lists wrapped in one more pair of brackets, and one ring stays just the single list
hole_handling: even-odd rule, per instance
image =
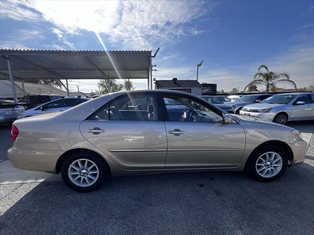
[{"label": "beige four-door sedan in the foreground, seen side-on", "polygon": [[[185,107],[179,116],[175,105]],[[61,172],[78,191],[99,188],[108,176],[176,171],[246,169],[268,182],[303,163],[307,152],[297,130],[163,90],[106,94],[64,112],[20,119],[12,140],[14,167]]]}]

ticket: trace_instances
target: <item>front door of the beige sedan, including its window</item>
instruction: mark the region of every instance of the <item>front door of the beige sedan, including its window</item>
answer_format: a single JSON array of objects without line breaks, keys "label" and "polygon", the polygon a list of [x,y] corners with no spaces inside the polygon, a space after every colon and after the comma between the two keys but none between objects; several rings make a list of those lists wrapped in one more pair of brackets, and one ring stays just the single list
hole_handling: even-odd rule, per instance
[{"label": "front door of the beige sedan, including its window", "polygon": [[223,123],[221,112],[200,100],[164,96],[164,103],[168,116],[166,168],[238,165],[245,148],[244,129],[240,124]]}]

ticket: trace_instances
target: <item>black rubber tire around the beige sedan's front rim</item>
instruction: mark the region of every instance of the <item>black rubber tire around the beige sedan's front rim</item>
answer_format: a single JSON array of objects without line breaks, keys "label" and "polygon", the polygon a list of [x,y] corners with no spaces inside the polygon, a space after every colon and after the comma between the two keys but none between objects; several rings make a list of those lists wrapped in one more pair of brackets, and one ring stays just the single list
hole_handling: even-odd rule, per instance
[{"label": "black rubber tire around the beige sedan's front rim", "polygon": [[[261,176],[257,170],[258,166],[256,166],[258,159],[266,152],[275,152],[275,153],[279,154],[280,157],[282,158],[281,169],[279,170],[279,172],[276,175],[274,175],[272,177]],[[252,176],[257,181],[271,182],[271,181],[274,181],[274,180],[277,180],[278,178],[280,178],[285,173],[285,171],[287,170],[287,167],[288,167],[287,153],[281,147],[278,147],[275,145],[269,145],[269,146],[263,146],[263,147],[258,148],[258,149],[253,151],[253,153],[250,155],[250,157],[246,163],[245,170],[250,174],[250,176]]]}]

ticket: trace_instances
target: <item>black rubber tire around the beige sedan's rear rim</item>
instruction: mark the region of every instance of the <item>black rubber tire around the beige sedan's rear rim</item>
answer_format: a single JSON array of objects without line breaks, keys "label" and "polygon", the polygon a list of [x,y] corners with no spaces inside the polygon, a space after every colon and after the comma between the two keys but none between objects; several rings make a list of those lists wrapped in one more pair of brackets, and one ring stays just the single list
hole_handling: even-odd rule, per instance
[{"label": "black rubber tire around the beige sedan's rear rim", "polygon": [[[68,176],[68,170],[70,165],[78,159],[88,159],[92,161],[98,167],[99,174],[97,180],[90,186],[81,187],[74,184]],[[91,164],[91,163],[89,163]],[[93,154],[89,151],[81,151],[69,154],[61,165],[61,177],[63,182],[71,189],[78,192],[90,192],[101,187],[105,180],[109,176],[109,167],[105,163],[105,160],[97,154]],[[96,174],[97,175],[97,174]],[[95,176],[95,174],[90,175]],[[87,178],[87,177],[86,177]],[[89,178],[88,178],[89,180]],[[85,181],[84,181],[85,182]],[[86,183],[86,182],[85,182]]]}]

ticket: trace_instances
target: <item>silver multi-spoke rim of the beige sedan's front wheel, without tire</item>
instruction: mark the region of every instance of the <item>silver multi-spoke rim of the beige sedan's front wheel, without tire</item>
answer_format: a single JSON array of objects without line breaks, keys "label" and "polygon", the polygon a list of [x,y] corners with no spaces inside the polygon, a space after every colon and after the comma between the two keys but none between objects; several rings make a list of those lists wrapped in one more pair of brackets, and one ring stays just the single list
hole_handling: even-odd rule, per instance
[{"label": "silver multi-spoke rim of the beige sedan's front wheel, without tire", "polygon": [[255,164],[257,173],[264,178],[270,178],[277,175],[282,167],[283,159],[276,152],[263,153]]}]

